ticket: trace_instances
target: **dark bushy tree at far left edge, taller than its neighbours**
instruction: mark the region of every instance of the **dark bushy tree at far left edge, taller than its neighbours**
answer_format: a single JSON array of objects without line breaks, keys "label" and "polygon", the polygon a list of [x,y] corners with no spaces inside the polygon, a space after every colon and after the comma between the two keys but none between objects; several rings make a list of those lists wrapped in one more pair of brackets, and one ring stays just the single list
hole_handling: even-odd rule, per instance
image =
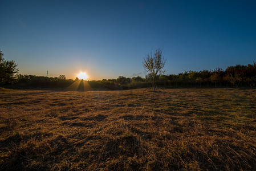
[{"label": "dark bushy tree at far left edge, taller than its neighbours", "polygon": [[2,50],[0,50],[0,84],[13,83],[15,74],[18,71],[17,64],[15,64],[14,60],[5,60]]}]

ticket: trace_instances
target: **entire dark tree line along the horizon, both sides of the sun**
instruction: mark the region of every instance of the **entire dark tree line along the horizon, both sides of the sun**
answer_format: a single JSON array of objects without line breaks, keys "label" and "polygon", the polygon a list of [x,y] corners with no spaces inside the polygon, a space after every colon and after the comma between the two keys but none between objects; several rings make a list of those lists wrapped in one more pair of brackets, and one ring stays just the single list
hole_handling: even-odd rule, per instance
[{"label": "entire dark tree line along the horizon, both sides of the sun", "polygon": [[[152,55],[148,55],[149,59]],[[157,58],[156,58],[157,59]],[[159,60],[156,60],[159,62]],[[65,75],[55,78],[46,76],[18,74],[17,64],[13,60],[5,60],[0,50],[0,86],[13,88],[67,88],[77,81],[66,79]],[[156,74],[159,73],[159,74]],[[117,79],[88,81],[92,89],[131,89],[144,88],[152,85],[162,87],[251,87],[256,86],[256,63],[246,66],[237,64],[226,70],[185,71],[180,74],[164,75],[163,72],[149,73],[145,78],[136,76]]]}]

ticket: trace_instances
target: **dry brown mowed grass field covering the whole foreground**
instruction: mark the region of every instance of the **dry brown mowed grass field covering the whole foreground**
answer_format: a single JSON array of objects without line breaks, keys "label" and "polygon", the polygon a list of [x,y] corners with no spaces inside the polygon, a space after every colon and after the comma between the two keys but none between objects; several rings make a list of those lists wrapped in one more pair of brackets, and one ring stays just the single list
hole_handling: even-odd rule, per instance
[{"label": "dry brown mowed grass field covering the whole foreground", "polygon": [[0,90],[1,170],[254,170],[255,89]]}]

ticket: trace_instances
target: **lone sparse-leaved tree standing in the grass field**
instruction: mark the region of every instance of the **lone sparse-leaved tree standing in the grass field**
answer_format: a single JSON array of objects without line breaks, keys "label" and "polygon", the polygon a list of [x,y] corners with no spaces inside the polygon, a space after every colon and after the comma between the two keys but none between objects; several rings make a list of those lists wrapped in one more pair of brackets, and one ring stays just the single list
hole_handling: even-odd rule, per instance
[{"label": "lone sparse-leaved tree standing in the grass field", "polygon": [[143,58],[143,67],[145,71],[149,72],[153,78],[152,87],[155,91],[156,86],[156,77],[157,75],[164,74],[164,68],[166,59],[164,59],[164,54],[162,53],[162,47],[156,47],[156,50],[151,50],[151,54],[147,54],[146,58]]}]

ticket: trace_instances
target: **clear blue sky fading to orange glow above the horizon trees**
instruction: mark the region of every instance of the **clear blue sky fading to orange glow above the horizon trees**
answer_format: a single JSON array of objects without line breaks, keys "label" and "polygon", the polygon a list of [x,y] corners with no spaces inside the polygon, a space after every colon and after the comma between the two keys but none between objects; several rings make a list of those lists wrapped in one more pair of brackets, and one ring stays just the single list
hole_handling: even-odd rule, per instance
[{"label": "clear blue sky fading to orange glow above the horizon trees", "polygon": [[21,74],[90,80],[144,75],[164,47],[166,74],[256,62],[256,1],[0,1],[0,48]]}]

